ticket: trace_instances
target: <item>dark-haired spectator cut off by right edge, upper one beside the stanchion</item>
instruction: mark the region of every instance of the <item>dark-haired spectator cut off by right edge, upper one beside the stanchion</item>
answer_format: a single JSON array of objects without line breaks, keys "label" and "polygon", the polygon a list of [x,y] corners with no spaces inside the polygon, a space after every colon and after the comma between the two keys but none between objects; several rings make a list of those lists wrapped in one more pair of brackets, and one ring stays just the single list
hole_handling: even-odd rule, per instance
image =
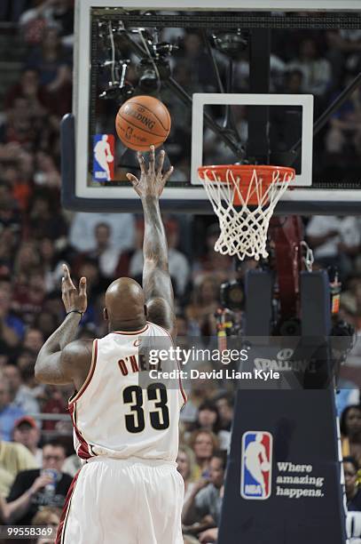
[{"label": "dark-haired spectator cut off by right edge, upper one beside the stanchion", "polygon": [[361,406],[350,405],[341,415],[342,456],[354,457],[361,467]]}]

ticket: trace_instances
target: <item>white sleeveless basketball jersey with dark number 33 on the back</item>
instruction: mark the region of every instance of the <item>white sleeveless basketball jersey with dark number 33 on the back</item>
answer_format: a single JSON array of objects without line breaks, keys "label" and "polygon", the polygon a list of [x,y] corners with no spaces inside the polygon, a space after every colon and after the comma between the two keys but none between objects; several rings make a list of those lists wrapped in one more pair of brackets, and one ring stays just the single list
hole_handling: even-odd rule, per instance
[{"label": "white sleeveless basketball jersey with dark number 33 on the back", "polygon": [[[146,386],[139,372],[139,344],[157,338],[163,347],[164,342],[172,345],[169,333],[152,323],[141,331],[111,332],[94,340],[88,377],[69,400],[75,451],[82,459],[176,460],[179,412],[186,400],[182,384],[177,380],[177,387],[166,388],[155,380]],[[178,370],[177,361],[162,367]]]}]

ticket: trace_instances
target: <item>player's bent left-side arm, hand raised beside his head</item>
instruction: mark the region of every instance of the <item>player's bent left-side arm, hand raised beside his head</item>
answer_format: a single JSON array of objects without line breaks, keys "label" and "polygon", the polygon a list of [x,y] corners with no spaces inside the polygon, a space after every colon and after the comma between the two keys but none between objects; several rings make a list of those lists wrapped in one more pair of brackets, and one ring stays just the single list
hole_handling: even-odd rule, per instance
[{"label": "player's bent left-side arm, hand raised beside his head", "polygon": [[86,343],[75,340],[79,322],[87,308],[86,278],[81,278],[79,289],[76,289],[67,265],[63,265],[63,272],[61,292],[67,316],[46,340],[35,363],[35,379],[51,385],[72,383],[75,362],[82,363],[82,359],[88,359],[91,353]]}]

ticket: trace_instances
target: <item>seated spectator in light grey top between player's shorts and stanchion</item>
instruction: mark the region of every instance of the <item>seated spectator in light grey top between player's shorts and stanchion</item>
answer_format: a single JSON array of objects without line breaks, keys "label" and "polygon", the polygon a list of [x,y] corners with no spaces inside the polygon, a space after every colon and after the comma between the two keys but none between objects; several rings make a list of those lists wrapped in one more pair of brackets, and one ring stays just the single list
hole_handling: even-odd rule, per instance
[{"label": "seated spectator in light grey top between player's shorts and stanchion", "polygon": [[185,502],[182,514],[184,524],[200,523],[208,518],[208,524],[218,526],[221,517],[225,456],[215,452],[209,464],[209,483],[197,482],[191,496]]}]

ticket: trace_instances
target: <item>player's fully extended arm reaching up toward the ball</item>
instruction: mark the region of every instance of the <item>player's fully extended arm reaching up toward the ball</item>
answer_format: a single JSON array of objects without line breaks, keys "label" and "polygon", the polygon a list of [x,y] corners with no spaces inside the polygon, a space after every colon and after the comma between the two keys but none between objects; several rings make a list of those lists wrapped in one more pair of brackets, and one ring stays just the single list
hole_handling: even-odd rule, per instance
[{"label": "player's fully extended arm reaching up toward the ball", "polygon": [[143,244],[144,268],[143,289],[151,322],[167,329],[174,337],[176,325],[174,316],[174,297],[168,267],[168,244],[161,220],[159,199],[173,167],[162,173],[165,152],[161,151],[158,164],[155,164],[154,146],[151,146],[149,164],[137,153],[140,166],[139,180],[127,174],[137,195],[140,196],[145,217],[145,237]]}]

